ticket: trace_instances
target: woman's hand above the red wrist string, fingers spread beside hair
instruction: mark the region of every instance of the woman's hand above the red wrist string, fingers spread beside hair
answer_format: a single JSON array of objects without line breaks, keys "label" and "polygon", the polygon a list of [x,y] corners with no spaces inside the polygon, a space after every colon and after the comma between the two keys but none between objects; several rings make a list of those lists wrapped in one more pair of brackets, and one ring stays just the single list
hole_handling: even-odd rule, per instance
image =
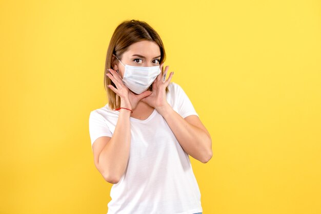
[{"label": "woman's hand above the red wrist string, fingers spread beside hair", "polygon": [[142,94],[134,94],[123,83],[121,76],[113,69],[108,69],[110,73],[106,75],[113,81],[116,88],[109,84],[108,87],[121,98],[121,107],[134,110],[139,100],[151,95],[151,91],[145,91]]}]

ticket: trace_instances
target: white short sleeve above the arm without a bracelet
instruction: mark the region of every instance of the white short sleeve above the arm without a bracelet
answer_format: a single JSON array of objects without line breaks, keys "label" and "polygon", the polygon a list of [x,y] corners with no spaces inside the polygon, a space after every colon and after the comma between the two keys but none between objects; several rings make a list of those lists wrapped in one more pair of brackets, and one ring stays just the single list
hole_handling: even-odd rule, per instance
[{"label": "white short sleeve above the arm without a bracelet", "polygon": [[177,103],[178,114],[183,118],[190,115],[198,116],[191,100],[188,98],[187,94],[182,89],[182,87],[180,87],[180,85],[178,85],[177,83],[174,83],[174,87],[176,92],[175,99],[177,100],[176,103]]}]

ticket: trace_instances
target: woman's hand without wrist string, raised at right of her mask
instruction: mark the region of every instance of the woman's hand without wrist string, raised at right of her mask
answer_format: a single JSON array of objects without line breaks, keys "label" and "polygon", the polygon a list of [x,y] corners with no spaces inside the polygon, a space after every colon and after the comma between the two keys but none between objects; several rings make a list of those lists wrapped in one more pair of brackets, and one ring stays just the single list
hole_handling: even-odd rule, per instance
[{"label": "woman's hand without wrist string, raised at right of her mask", "polygon": [[[163,70],[163,65],[164,62],[159,66],[161,71]],[[142,99],[143,102],[146,102],[147,104],[155,108],[156,111],[161,115],[162,112],[165,111],[165,109],[169,106],[166,99],[166,87],[169,85],[174,74],[174,72],[171,72],[168,79],[165,80],[168,68],[169,66],[166,66],[163,74],[162,72],[160,72],[160,74],[156,77],[155,81],[152,84],[153,91],[151,95]]]}]

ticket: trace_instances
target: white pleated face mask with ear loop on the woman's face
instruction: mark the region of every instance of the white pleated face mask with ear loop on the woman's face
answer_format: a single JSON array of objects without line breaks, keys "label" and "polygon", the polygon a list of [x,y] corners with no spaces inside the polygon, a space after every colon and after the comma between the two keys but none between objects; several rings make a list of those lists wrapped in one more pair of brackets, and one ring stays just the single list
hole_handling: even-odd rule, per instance
[{"label": "white pleated face mask with ear loop on the woman's face", "polygon": [[[119,61],[121,62],[121,60]],[[123,62],[121,63],[125,67],[123,83],[126,85],[128,89],[135,92],[136,94],[141,94],[145,92],[154,82],[154,80],[160,74],[160,72],[162,72],[160,71],[159,66],[125,66]]]}]

